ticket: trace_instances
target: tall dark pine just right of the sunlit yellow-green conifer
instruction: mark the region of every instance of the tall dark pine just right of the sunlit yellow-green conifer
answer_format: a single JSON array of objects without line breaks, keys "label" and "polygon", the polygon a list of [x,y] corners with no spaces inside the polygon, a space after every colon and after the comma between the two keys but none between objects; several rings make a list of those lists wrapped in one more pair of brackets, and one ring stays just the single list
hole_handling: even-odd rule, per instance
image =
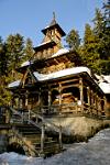
[{"label": "tall dark pine just right of the sunlit yellow-green conifer", "polygon": [[[105,14],[103,14],[105,15]],[[99,44],[99,68],[101,74],[110,74],[110,29],[100,10],[96,10],[94,32]]]}]

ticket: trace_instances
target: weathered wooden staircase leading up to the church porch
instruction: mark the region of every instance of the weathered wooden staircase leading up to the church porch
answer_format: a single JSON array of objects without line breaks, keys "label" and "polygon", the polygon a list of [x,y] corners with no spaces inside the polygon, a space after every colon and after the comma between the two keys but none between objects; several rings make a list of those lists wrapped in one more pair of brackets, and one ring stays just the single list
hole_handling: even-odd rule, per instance
[{"label": "weathered wooden staircase leading up to the church porch", "polygon": [[[22,114],[19,111],[12,108],[11,111],[14,114],[16,113],[19,117],[22,118]],[[15,121],[15,119],[13,121]],[[42,156],[42,157],[51,156],[53,154],[58,153],[62,150],[61,143],[62,135],[59,133],[59,139],[56,138],[54,139],[54,136],[51,136],[51,134],[48,134],[46,131],[47,124],[48,123],[44,121],[37,123],[32,121],[31,119],[24,123],[13,122],[12,125],[14,129],[12,136],[18,136],[18,139],[22,141],[21,144],[28,146],[26,155]]]}]

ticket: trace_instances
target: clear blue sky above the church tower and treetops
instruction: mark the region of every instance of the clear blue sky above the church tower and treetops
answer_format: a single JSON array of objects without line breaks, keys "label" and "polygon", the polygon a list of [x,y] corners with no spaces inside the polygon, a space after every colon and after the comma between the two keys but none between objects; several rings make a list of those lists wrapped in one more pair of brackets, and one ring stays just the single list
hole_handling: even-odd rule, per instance
[{"label": "clear blue sky above the church tower and treetops", "polygon": [[0,0],[0,36],[4,41],[9,34],[20,33],[36,46],[43,40],[41,30],[51,23],[55,12],[56,21],[66,34],[75,29],[82,37],[85,24],[91,23],[95,9],[101,9],[103,1]]}]

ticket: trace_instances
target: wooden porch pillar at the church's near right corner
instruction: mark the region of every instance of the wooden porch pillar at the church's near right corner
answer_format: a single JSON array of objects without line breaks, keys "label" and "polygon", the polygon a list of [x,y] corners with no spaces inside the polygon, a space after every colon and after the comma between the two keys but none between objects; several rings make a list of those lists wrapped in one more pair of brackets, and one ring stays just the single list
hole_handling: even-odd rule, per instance
[{"label": "wooden porch pillar at the church's near right corner", "polygon": [[82,78],[79,78],[79,91],[80,91],[81,112],[84,112],[84,87],[82,87]]}]

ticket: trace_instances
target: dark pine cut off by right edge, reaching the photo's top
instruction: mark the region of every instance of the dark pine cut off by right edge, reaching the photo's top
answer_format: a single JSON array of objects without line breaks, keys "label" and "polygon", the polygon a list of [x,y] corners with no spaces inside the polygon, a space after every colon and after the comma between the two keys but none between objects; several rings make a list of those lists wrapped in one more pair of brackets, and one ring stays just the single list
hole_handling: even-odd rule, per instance
[{"label": "dark pine cut off by right edge, reaching the photo's top", "polygon": [[102,74],[110,74],[110,0],[103,3],[103,35],[100,41],[102,45],[102,55],[100,67]]}]

